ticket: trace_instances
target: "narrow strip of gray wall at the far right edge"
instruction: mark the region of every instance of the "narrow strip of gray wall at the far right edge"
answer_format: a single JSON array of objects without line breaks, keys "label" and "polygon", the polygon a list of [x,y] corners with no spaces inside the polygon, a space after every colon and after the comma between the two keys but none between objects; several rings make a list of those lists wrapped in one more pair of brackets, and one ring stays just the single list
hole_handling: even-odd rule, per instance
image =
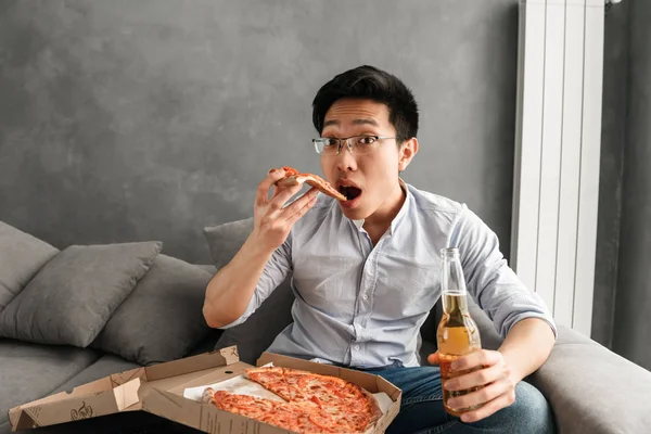
[{"label": "narrow strip of gray wall at the far right edge", "polygon": [[651,2],[629,3],[627,140],[613,348],[651,369]]}]

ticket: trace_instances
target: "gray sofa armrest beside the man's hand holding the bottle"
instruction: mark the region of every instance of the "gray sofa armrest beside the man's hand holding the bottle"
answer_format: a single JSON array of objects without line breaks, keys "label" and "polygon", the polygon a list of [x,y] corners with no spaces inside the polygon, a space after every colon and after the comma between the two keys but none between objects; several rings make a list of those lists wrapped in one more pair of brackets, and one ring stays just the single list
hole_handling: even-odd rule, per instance
[{"label": "gray sofa armrest beside the man's hand holding the bottle", "polygon": [[547,397],[559,433],[644,433],[651,372],[562,326],[545,362],[526,380]]}]

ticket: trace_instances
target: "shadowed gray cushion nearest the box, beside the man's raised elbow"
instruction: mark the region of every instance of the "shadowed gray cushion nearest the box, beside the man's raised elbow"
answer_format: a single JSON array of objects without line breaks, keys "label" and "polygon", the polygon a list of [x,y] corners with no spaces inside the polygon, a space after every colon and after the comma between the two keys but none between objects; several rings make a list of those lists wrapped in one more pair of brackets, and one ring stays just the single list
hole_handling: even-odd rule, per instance
[{"label": "shadowed gray cushion nearest the box, beside the man's raised elbow", "polygon": [[158,255],[92,346],[144,366],[183,357],[210,331],[202,307],[212,277]]}]

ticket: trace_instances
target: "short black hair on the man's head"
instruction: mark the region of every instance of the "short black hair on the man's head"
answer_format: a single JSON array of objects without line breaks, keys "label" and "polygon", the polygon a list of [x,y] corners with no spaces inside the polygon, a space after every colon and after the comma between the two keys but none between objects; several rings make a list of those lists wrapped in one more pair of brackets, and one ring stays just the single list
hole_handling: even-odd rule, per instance
[{"label": "short black hair on the man's head", "polygon": [[344,98],[386,104],[398,143],[417,136],[418,104],[411,90],[396,76],[369,65],[341,73],[319,89],[312,101],[312,124],[319,133],[328,110]]}]

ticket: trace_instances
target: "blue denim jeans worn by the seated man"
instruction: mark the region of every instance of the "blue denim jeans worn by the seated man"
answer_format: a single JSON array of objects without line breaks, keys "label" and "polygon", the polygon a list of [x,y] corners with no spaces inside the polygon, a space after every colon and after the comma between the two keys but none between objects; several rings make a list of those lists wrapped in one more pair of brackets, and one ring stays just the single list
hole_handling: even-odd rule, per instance
[{"label": "blue denim jeans worn by the seated man", "polygon": [[436,366],[369,370],[403,391],[400,412],[387,434],[554,433],[551,408],[542,394],[522,381],[515,403],[477,422],[464,423],[443,408],[441,371]]}]

